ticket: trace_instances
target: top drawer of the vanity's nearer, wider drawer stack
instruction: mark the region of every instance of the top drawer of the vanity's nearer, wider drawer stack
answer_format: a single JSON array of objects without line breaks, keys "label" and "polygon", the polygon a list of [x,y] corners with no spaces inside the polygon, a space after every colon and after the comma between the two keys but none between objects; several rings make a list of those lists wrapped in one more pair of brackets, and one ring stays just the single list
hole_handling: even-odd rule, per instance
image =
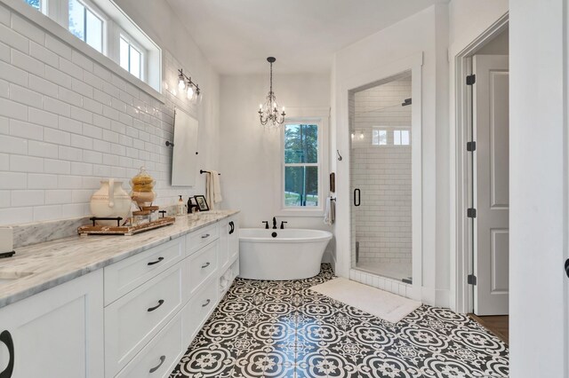
[{"label": "top drawer of the vanity's nearer, wider drawer stack", "polygon": [[105,305],[156,277],[184,256],[184,239],[168,241],[105,267]]}]

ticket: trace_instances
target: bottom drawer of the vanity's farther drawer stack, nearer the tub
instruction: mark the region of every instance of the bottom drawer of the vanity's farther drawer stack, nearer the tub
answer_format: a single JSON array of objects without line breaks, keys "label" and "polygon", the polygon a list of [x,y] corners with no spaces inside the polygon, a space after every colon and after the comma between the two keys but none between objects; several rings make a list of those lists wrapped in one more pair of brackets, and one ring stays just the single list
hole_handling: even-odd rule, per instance
[{"label": "bottom drawer of the vanity's farther drawer stack, nearer the tub", "polygon": [[186,342],[191,343],[205,319],[212,313],[217,305],[218,284],[217,277],[212,277],[184,307],[184,335],[190,337]]}]

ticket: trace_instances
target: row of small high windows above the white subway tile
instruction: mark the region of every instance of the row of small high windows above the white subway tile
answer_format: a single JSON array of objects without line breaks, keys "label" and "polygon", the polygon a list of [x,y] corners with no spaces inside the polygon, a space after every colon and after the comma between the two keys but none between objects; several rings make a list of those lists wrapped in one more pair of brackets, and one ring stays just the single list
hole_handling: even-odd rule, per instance
[{"label": "row of small high windows above the white subway tile", "polygon": [[[23,1],[114,60],[137,79],[162,91],[162,51],[113,0]],[[49,27],[57,35],[55,26]]]}]

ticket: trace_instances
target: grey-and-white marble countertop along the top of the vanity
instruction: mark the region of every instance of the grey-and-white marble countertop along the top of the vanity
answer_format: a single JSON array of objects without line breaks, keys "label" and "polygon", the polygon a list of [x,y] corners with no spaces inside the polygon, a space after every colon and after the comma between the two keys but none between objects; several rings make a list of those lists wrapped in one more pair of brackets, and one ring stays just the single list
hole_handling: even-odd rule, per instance
[{"label": "grey-and-white marble countertop along the top of the vanity", "polygon": [[0,259],[0,308],[237,213],[213,210],[132,236],[74,236],[17,249],[15,256]]}]

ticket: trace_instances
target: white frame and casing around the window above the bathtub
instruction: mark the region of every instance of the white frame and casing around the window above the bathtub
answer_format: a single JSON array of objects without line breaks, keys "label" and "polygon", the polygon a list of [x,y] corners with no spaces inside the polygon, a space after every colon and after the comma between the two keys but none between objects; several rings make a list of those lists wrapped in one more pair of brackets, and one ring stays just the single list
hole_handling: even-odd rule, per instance
[{"label": "white frame and casing around the window above the bathtub", "polygon": [[[280,151],[279,151],[279,164],[281,169],[279,171],[280,175],[276,179],[275,187],[278,188],[279,195],[276,195],[276,209],[279,209],[276,216],[279,217],[323,217],[325,209],[325,199],[328,191],[328,180],[329,180],[329,141],[328,141],[328,124],[329,124],[329,109],[315,109],[310,111],[309,109],[305,111],[293,112],[288,110],[287,113],[298,113],[293,117],[286,118],[283,127],[280,131]],[[305,115],[306,114],[306,115]],[[314,114],[314,115],[308,115]],[[293,114],[294,115],[294,114]],[[284,206],[285,195],[284,195],[284,126],[291,124],[316,124],[318,127],[318,206],[298,206],[298,207],[286,207]],[[293,166],[294,164],[287,164],[286,166]],[[296,165],[305,166],[311,165],[310,163],[298,163]]]}]

